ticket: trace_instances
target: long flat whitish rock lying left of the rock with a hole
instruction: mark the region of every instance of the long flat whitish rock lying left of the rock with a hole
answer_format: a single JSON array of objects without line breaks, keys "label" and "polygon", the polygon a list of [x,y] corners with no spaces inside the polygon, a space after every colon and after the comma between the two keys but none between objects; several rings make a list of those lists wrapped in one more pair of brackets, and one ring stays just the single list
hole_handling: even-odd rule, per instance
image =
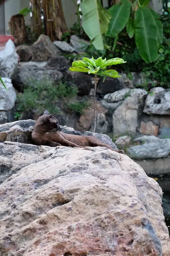
[{"label": "long flat whitish rock lying left of the rock with a hole", "polygon": [[139,99],[142,99],[145,95],[147,95],[147,91],[143,89],[129,89],[125,88],[122,90],[118,90],[114,93],[108,93],[104,96],[104,99],[106,102],[119,102],[124,100],[125,98],[131,96],[131,97],[138,97]]}]

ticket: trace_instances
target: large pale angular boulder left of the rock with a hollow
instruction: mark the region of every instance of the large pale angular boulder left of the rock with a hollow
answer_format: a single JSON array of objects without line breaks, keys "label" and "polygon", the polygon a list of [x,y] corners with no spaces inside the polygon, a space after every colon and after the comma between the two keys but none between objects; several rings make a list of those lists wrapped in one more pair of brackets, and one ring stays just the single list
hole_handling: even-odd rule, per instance
[{"label": "large pale angular boulder left of the rock with a hollow", "polygon": [[[108,97],[108,100],[121,101],[123,98],[122,94],[126,95],[125,91],[122,93],[122,90],[115,92],[115,95],[112,95],[110,98]],[[142,89],[128,90],[127,97],[125,97],[123,103],[113,113],[114,135],[136,134],[138,119],[142,113],[144,98],[147,92]]]}]

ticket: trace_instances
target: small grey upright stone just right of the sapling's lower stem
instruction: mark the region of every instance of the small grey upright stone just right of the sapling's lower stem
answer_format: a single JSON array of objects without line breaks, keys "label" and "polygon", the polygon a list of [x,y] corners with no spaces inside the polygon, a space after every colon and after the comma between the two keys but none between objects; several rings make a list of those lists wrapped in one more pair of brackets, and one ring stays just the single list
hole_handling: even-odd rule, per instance
[{"label": "small grey upright stone just right of the sapling's lower stem", "polygon": [[[94,123],[91,125],[90,131],[93,131]],[[103,113],[99,113],[96,116],[96,133],[106,134],[108,131],[108,121],[106,120],[106,116]]]}]

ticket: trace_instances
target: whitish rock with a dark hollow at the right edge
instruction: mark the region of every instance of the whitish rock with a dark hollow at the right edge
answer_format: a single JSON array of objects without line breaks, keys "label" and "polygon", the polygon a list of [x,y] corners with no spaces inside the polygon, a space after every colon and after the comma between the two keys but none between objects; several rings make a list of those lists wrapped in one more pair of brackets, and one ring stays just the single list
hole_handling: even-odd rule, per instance
[{"label": "whitish rock with a dark hollow at the right edge", "polygon": [[170,90],[159,90],[148,94],[145,100],[144,113],[170,115]]}]

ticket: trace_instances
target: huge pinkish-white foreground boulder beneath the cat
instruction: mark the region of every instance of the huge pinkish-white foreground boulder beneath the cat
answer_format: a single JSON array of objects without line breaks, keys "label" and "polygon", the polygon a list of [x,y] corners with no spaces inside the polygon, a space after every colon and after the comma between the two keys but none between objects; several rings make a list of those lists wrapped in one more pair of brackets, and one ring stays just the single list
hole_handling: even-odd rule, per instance
[{"label": "huge pinkish-white foreground boulder beneath the cat", "polygon": [[162,190],[126,155],[5,142],[0,169],[0,255],[170,255]]}]

